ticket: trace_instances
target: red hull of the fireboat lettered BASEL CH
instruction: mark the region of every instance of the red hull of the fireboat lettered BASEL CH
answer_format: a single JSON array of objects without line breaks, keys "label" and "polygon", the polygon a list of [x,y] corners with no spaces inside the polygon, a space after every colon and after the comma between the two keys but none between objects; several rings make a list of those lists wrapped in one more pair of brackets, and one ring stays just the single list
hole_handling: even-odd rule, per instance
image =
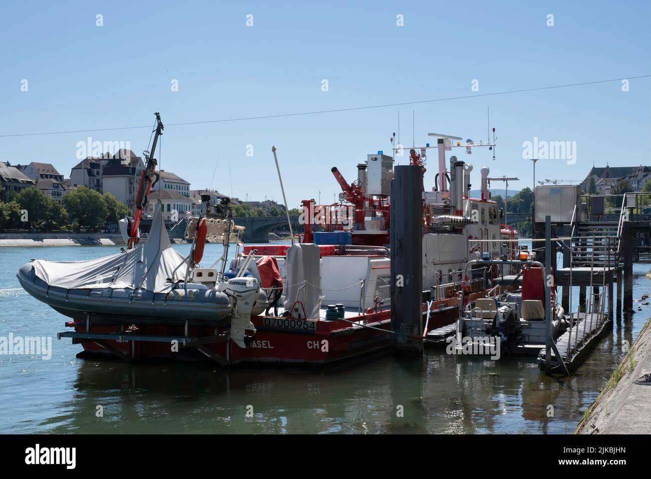
[{"label": "red hull of the fireboat lettered BASEL CH", "polygon": [[[485,292],[472,293],[469,300],[484,295]],[[458,317],[458,298],[439,300],[432,304],[432,313],[428,329],[449,325]],[[423,307],[425,310],[425,307]],[[357,319],[354,317],[351,319]],[[255,338],[250,347],[241,348],[232,341],[204,343],[212,359],[223,365],[245,362],[283,362],[303,364],[329,364],[332,362],[365,355],[386,349],[391,343],[391,311],[363,315],[366,327],[351,325],[348,321],[304,321],[273,316],[254,316],[251,321],[256,327]],[[86,323],[72,322],[70,326],[77,333],[86,332]],[[90,332],[96,334],[115,334],[118,325],[91,325]],[[184,336],[183,327],[166,325],[139,325],[128,334],[138,336]],[[217,332],[221,333],[221,330]],[[214,334],[210,327],[189,327],[189,341],[207,338]],[[214,337],[214,336],[213,336]],[[206,358],[198,351],[187,355],[188,349],[180,345],[178,352],[173,351],[170,341],[92,341],[75,338],[74,343],[81,343],[85,351],[92,353],[113,353],[128,359],[168,358],[189,359]],[[102,345],[102,344],[104,345]],[[105,346],[108,347],[105,347]],[[113,349],[114,351],[111,351]]]}]

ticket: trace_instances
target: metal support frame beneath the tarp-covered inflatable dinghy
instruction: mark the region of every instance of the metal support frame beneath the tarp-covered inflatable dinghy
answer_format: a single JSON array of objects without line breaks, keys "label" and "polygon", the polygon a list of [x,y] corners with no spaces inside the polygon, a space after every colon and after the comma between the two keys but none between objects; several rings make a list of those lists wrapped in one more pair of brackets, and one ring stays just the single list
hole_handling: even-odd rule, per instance
[{"label": "metal support frame beneath the tarp-covered inflatable dinghy", "polygon": [[[76,323],[77,326],[80,323]],[[75,324],[71,324],[75,326]],[[135,359],[135,343],[136,341],[146,341],[152,343],[168,343],[172,344],[173,341],[176,341],[178,344],[179,351],[180,349],[194,348],[197,349],[200,353],[207,356],[210,360],[213,360],[221,366],[226,366],[229,364],[229,360],[222,358],[221,356],[215,354],[213,351],[210,351],[206,347],[207,344],[213,343],[223,343],[230,341],[230,334],[226,332],[224,334],[213,334],[212,336],[189,336],[187,334],[189,323],[185,321],[185,336],[163,336],[159,334],[136,334],[137,327],[128,327],[126,330],[121,330],[111,333],[102,333],[102,332],[91,332],[90,331],[90,318],[86,319],[86,330],[83,332],[79,331],[63,331],[57,333],[57,340],[61,338],[72,338],[73,344],[82,344],[82,343],[96,343],[100,347],[104,348],[107,352],[112,353],[120,359],[123,359],[127,362],[130,362]],[[124,328],[123,328],[124,329]],[[131,343],[131,354],[124,353],[120,351],[107,341],[116,341],[118,343]],[[229,349],[227,348],[227,351]]]}]

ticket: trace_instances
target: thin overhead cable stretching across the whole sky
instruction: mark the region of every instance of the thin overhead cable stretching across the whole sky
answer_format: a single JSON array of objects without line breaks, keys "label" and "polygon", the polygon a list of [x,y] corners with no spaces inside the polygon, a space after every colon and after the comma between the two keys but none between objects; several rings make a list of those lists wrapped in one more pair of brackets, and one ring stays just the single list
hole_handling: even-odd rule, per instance
[{"label": "thin overhead cable stretching across the whole sky", "polygon": [[[611,80],[597,80],[597,81],[583,81],[581,83],[566,83],[565,85],[552,85],[549,87],[536,87],[536,88],[525,88],[519,90],[508,90],[508,91],[498,91],[494,93],[477,93],[477,94],[468,94],[463,96],[449,96],[447,98],[435,98],[434,100],[417,100],[413,102],[401,102],[401,103],[387,103],[381,105],[370,105],[370,106],[355,106],[351,108],[337,108],[337,109],[322,109],[315,111],[301,111],[299,113],[279,113],[277,115],[263,115],[259,117],[241,117],[241,118],[227,118],[219,120],[204,120],[204,121],[186,121],[182,123],[165,123],[165,126],[183,126],[190,124],[208,124],[208,123],[227,123],[232,121],[247,121],[247,120],[264,120],[271,118],[284,118],[284,117],[298,117],[302,115],[320,115],[322,113],[339,113],[342,111],[356,111],[363,109],[373,109],[373,108],[388,108],[390,106],[406,106],[406,105],[417,105],[424,103],[434,103],[434,102],[447,102],[450,100],[463,100],[464,98],[478,98],[482,96],[495,96],[501,94],[512,94],[512,93],[526,93],[531,91],[542,91],[542,90],[551,90],[557,88],[568,88],[568,87],[580,87],[583,85],[596,85],[598,83],[610,83],[612,81],[622,81],[622,80],[637,80],[639,78],[649,78],[651,75],[639,75],[639,76],[628,76],[623,78],[613,78]],[[66,130],[60,132],[40,132],[40,133],[20,133],[20,134],[10,134],[10,135],[0,135],[0,138],[13,138],[18,136],[40,136],[40,135],[62,135],[69,133],[91,133],[91,132],[109,132],[115,130],[136,130],[138,128],[151,128],[150,125],[141,125],[141,126],[120,126],[117,128],[93,128],[89,130]]]}]

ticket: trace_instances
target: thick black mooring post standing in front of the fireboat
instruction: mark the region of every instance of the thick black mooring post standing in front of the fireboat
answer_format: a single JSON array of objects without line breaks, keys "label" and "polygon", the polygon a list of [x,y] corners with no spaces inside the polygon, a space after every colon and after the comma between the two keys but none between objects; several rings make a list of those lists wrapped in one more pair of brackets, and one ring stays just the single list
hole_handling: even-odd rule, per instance
[{"label": "thick black mooring post standing in front of the fireboat", "polygon": [[422,167],[396,166],[391,181],[393,348],[422,355]]}]

